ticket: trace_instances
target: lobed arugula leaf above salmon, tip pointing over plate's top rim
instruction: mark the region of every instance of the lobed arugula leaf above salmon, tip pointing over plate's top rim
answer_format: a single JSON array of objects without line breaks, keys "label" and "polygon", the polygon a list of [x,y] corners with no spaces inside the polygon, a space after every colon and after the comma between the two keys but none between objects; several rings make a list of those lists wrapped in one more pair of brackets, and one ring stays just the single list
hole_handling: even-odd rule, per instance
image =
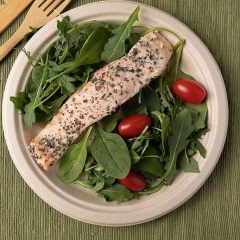
[{"label": "lobed arugula leaf above salmon, tip pointing over plate's top rim", "polygon": [[140,6],[135,9],[135,11],[130,15],[125,23],[112,30],[114,35],[105,45],[104,51],[102,53],[103,61],[111,62],[124,56],[126,52],[125,41],[131,35],[131,28],[133,23],[138,20],[139,10]]}]

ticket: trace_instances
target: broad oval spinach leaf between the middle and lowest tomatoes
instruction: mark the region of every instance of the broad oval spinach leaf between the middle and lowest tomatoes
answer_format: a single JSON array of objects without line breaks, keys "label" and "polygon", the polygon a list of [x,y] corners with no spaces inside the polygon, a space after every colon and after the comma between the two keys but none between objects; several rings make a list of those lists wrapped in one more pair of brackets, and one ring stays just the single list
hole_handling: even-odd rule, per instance
[{"label": "broad oval spinach leaf between the middle and lowest tomatoes", "polygon": [[120,135],[107,133],[99,126],[90,146],[96,161],[106,173],[115,178],[124,178],[130,171],[131,157],[124,140]]}]

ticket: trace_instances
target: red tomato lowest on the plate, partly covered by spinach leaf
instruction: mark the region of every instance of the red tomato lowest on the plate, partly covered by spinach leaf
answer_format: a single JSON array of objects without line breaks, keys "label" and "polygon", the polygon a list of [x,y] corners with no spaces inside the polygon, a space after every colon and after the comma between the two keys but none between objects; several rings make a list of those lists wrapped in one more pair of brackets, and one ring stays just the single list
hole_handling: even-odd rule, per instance
[{"label": "red tomato lowest on the plate, partly covered by spinach leaf", "polygon": [[141,191],[146,186],[145,178],[140,173],[132,170],[125,178],[118,179],[118,182],[133,192]]}]

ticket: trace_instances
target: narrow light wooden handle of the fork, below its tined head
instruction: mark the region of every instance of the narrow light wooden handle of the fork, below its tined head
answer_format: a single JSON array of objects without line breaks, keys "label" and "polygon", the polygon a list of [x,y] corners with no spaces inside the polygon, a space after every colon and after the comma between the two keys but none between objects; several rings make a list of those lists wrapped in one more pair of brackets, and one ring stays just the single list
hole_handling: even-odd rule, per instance
[{"label": "narrow light wooden handle of the fork, below its tined head", "polygon": [[7,54],[24,38],[25,34],[30,32],[30,28],[21,25],[18,30],[0,47],[0,62]]}]

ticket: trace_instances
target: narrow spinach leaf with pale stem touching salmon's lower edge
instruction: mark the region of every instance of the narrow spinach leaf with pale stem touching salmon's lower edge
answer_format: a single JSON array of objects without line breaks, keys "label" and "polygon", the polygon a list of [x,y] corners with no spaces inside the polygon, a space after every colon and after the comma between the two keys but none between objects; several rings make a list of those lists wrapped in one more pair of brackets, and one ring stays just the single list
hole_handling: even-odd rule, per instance
[{"label": "narrow spinach leaf with pale stem touching salmon's lower edge", "polygon": [[90,127],[84,138],[77,144],[70,146],[58,168],[57,176],[62,182],[74,181],[84,168],[87,158],[87,140],[92,130]]}]

